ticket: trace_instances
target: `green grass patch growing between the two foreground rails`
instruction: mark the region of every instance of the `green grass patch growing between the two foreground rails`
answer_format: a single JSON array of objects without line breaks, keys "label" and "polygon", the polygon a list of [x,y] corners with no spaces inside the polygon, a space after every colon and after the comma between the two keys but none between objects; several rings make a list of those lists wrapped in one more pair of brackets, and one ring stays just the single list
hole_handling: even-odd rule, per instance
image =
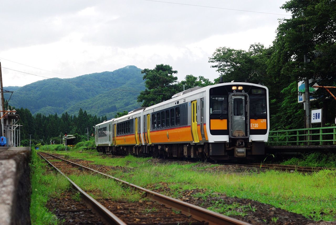
[{"label": "green grass patch growing between the two foreground rails", "polygon": [[70,175],[69,178],[92,197],[102,197],[111,200],[139,201],[140,193],[130,187],[123,187],[113,179],[100,175]]}]

